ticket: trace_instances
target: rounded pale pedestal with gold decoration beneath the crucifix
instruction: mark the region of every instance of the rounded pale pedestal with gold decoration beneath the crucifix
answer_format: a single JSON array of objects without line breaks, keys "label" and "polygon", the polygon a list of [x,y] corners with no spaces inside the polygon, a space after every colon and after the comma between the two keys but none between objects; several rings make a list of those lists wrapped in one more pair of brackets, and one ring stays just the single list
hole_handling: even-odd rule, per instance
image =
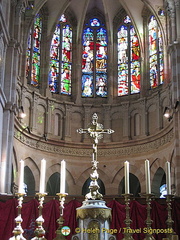
[{"label": "rounded pale pedestal with gold decoration beneath the crucifix", "polygon": [[[86,200],[76,209],[79,222],[72,240],[115,240],[110,234],[111,209],[102,200]],[[114,229],[115,231],[115,229]]]}]

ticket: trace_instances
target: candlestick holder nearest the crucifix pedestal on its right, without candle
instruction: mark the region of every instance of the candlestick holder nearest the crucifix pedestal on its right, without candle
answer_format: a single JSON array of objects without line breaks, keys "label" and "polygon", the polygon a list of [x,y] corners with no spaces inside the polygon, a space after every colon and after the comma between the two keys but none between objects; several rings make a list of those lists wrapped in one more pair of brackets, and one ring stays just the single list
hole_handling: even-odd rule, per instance
[{"label": "candlestick holder nearest the crucifix pedestal on its right, without candle", "polygon": [[132,220],[130,219],[130,214],[129,214],[129,204],[130,204],[130,197],[132,196],[132,194],[123,194],[124,199],[125,199],[125,205],[126,205],[126,219],[124,221],[124,223],[126,224],[126,228],[124,229],[124,238],[123,240],[134,240],[134,238],[132,237],[132,231],[131,231],[131,222]]}]

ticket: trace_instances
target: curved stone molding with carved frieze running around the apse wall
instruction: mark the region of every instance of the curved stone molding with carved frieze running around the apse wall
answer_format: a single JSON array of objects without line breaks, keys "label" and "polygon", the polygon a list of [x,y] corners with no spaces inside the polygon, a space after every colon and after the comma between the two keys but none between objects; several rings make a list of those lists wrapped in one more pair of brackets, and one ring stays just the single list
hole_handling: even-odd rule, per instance
[{"label": "curved stone molding with carved frieze running around the apse wall", "polygon": [[[22,132],[16,127],[14,131],[14,137],[28,147],[44,152],[79,157],[89,157],[92,155],[92,149],[90,145],[66,142],[66,146],[61,146],[61,142],[55,142],[53,140],[46,142],[39,138],[33,139],[30,135],[26,134],[25,131]],[[173,138],[174,132],[171,128],[169,131],[164,131],[163,134],[161,133],[153,139],[146,138],[146,140],[137,140],[133,141],[133,143],[108,143],[108,148],[107,145],[100,144],[98,146],[98,156],[129,156],[132,154],[135,155],[147,153],[154,151],[155,149],[157,150],[158,148],[170,143]],[[64,142],[62,145],[64,145]]]}]

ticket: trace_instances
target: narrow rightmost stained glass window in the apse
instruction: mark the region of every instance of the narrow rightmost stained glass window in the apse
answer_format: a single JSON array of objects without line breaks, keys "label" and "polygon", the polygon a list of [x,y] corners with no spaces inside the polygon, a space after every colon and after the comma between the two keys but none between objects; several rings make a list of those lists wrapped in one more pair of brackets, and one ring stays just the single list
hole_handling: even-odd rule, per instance
[{"label": "narrow rightmost stained glass window in the apse", "polygon": [[164,64],[161,31],[154,16],[151,16],[149,20],[148,30],[150,86],[155,88],[163,83]]}]

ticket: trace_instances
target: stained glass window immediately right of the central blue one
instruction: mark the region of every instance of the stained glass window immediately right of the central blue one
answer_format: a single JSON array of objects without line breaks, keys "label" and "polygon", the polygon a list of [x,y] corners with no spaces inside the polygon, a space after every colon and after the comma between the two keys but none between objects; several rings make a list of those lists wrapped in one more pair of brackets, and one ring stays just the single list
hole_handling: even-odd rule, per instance
[{"label": "stained glass window immediately right of the central blue one", "polygon": [[118,29],[118,96],[140,92],[140,46],[129,16]]}]

